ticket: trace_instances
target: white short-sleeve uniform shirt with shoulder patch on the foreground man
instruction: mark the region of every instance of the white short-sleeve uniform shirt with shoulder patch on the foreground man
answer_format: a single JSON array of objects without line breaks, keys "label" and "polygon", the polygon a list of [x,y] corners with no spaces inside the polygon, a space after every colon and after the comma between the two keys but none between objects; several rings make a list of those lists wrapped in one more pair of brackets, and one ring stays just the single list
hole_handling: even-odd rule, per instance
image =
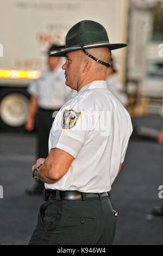
[{"label": "white short-sleeve uniform shirt with shoulder patch on the foreground man", "polygon": [[129,113],[112,95],[105,81],[93,81],[65,103],[54,119],[49,151],[59,148],[74,157],[54,190],[102,193],[124,161],[132,125]]}]

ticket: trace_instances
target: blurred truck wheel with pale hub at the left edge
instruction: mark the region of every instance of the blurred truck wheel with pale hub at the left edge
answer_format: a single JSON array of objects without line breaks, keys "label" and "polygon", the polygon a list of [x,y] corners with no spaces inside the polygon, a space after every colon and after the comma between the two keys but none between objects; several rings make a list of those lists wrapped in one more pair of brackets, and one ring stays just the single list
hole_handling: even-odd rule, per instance
[{"label": "blurred truck wheel with pale hub at the left edge", "polygon": [[0,94],[0,127],[24,130],[29,108],[29,95],[25,88],[3,88]]}]

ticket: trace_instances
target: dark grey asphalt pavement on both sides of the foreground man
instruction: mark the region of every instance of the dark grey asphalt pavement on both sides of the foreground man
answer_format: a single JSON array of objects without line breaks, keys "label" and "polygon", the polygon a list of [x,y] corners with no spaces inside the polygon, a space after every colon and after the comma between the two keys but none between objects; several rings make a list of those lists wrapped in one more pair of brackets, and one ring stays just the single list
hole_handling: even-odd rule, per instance
[{"label": "dark grey asphalt pavement on both sides of the foreground man", "polygon": [[[159,115],[135,118],[136,125],[161,129]],[[35,133],[0,131],[0,245],[27,245],[35,227],[41,196],[28,196],[34,184]],[[163,145],[156,139],[133,135],[121,172],[111,190],[111,203],[118,211],[114,245],[162,245],[163,217],[154,217],[154,206],[163,205]],[[1,187],[1,188],[2,188]],[[1,197],[1,196],[0,196]]]}]

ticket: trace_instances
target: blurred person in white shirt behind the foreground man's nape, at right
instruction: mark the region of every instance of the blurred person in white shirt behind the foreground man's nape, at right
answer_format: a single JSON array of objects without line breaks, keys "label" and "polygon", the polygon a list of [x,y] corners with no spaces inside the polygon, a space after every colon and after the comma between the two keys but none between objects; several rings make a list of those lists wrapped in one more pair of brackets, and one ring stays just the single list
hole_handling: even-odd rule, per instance
[{"label": "blurred person in white shirt behind the foreground man's nape, at right", "polygon": [[117,70],[114,67],[114,61],[112,58],[110,60],[110,64],[111,66],[107,69],[106,74],[107,87],[123,106],[127,106],[128,97],[126,95],[124,85],[121,82],[117,81],[117,79],[114,77],[114,74],[117,73]]}]

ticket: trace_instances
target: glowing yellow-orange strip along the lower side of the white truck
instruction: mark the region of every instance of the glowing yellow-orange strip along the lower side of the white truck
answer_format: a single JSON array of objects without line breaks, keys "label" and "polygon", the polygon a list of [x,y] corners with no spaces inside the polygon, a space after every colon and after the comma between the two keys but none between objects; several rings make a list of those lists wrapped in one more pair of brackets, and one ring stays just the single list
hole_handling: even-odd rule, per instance
[{"label": "glowing yellow-orange strip along the lower side of the white truck", "polygon": [[41,74],[41,70],[24,70],[24,69],[0,69],[1,78],[14,79],[37,79]]}]

